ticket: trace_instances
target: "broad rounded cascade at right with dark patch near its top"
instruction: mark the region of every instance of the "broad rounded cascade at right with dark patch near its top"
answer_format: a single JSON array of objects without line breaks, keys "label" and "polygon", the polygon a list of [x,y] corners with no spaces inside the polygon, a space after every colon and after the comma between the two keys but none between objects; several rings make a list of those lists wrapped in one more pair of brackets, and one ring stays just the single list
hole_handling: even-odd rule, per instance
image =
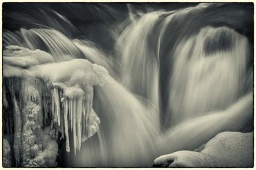
[{"label": "broad rounded cascade at right with dark patch near its top", "polygon": [[170,124],[225,109],[243,94],[248,40],[226,27],[205,27],[174,53]]}]

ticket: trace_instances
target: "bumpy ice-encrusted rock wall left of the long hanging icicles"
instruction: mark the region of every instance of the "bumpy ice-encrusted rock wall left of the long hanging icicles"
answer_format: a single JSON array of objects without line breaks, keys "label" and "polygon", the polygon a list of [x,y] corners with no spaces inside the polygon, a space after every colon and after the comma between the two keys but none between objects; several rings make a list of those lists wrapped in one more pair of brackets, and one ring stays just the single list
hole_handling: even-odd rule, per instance
[{"label": "bumpy ice-encrusted rock wall left of the long hanging icicles", "polygon": [[3,138],[7,140],[3,146],[3,167],[55,167],[57,142],[53,135],[42,133],[42,81],[4,77],[3,82],[8,103],[3,117],[11,114],[12,120],[3,124]]}]

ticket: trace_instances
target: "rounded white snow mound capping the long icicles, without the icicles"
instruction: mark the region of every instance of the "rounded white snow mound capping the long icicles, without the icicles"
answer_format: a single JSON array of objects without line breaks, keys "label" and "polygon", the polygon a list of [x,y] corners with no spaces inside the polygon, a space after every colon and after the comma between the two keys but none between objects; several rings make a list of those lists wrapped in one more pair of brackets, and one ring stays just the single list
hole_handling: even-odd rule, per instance
[{"label": "rounded white snow mound capping the long icicles, without the icicles", "polygon": [[[53,86],[65,89],[66,95],[71,93],[80,94],[78,88],[86,91],[86,87],[111,82],[112,78],[108,71],[97,64],[91,64],[86,59],[72,59],[66,62],[44,64],[30,68],[35,77],[44,79]],[[68,87],[75,87],[71,89]]]}]

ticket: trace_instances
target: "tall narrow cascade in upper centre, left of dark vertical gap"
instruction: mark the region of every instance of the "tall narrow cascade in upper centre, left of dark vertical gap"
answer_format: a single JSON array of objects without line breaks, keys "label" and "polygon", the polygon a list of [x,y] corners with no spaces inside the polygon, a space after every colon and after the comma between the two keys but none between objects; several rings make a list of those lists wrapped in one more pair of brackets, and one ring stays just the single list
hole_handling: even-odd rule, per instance
[{"label": "tall narrow cascade in upper centre, left of dark vertical gap", "polygon": [[[154,26],[166,12],[151,12],[131,23],[116,42],[122,65],[122,84],[158,107],[158,37]],[[119,56],[120,55],[120,56]]]}]

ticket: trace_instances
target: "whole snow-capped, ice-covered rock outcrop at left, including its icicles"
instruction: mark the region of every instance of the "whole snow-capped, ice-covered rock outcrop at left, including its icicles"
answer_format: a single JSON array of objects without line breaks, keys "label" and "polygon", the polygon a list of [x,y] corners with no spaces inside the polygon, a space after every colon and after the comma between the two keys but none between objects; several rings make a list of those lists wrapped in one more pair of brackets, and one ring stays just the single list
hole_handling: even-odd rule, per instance
[{"label": "whole snow-capped, ice-covered rock outcrop at left, including its icicles", "polygon": [[3,138],[9,142],[5,140],[4,166],[55,167],[56,141],[64,142],[67,152],[80,151],[82,142],[99,129],[100,120],[92,108],[93,86],[110,81],[105,68],[86,59],[54,63],[41,50],[7,46],[3,51]]}]

